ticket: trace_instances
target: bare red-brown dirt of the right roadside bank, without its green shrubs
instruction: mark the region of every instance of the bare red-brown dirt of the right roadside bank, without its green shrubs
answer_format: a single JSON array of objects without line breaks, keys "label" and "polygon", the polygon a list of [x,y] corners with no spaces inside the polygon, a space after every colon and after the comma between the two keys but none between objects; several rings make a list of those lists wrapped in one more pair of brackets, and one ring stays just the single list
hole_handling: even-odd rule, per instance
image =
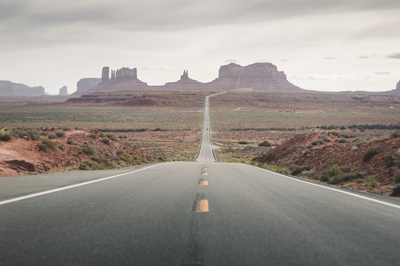
[{"label": "bare red-brown dirt of the right roadside bank, without its green shrubs", "polygon": [[[253,160],[259,163],[276,164],[279,161],[289,162],[286,166],[291,165],[308,165],[309,169],[313,169],[316,173],[328,169],[332,165],[350,166],[353,170],[362,171],[366,174],[366,178],[373,178],[378,181],[376,190],[382,194],[390,194],[390,188],[394,186],[394,176],[400,173],[398,167],[400,138],[379,138],[367,141],[358,147],[355,151],[353,146],[356,143],[338,143],[334,142],[337,137],[330,135],[331,142],[324,142],[312,146],[310,149],[307,145],[322,135],[298,135],[284,142],[270,152],[256,157]],[[353,140],[354,138],[352,138]],[[363,162],[363,156],[370,147],[378,147],[378,154]],[[385,165],[382,156],[394,151],[396,153],[394,161],[390,167]],[[367,191],[368,185],[360,184],[353,181],[344,182],[344,187]]]}]

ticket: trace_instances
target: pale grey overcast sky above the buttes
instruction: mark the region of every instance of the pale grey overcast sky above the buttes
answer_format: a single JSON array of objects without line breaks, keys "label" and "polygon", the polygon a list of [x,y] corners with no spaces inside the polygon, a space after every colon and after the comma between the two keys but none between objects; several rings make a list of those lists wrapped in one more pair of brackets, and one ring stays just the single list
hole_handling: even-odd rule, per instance
[{"label": "pale grey overcast sky above the buttes", "polygon": [[399,14],[399,0],[0,0],[0,80],[57,94],[103,66],[163,85],[271,62],[304,89],[387,91]]}]

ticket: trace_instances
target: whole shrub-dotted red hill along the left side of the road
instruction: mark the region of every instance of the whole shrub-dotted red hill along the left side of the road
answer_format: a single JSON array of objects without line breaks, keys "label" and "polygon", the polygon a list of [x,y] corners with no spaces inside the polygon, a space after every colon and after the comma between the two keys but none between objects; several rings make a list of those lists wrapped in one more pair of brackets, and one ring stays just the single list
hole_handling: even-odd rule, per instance
[{"label": "whole shrub-dotted red hill along the left side of the road", "polygon": [[[56,134],[60,134],[57,131],[62,131],[65,135],[56,137]],[[110,133],[88,130],[0,129],[0,138],[4,139],[7,132],[19,132],[22,137],[12,137],[9,141],[0,140],[0,177],[60,169],[114,169],[150,161],[146,153]],[[54,139],[48,138],[51,135]]]}]

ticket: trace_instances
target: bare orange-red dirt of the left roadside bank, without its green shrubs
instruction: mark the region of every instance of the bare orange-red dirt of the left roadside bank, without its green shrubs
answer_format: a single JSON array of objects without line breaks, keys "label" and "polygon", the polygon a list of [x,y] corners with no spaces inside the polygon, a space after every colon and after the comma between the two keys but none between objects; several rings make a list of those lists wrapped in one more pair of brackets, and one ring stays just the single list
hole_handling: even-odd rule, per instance
[{"label": "bare orange-red dirt of the left roadside bank, without its green shrubs", "polygon": [[[54,132],[56,130],[48,133]],[[26,138],[18,138],[11,141],[0,141],[0,177],[26,175],[30,172],[40,173],[79,165],[81,161],[90,158],[89,155],[79,152],[77,149],[83,143],[95,147],[100,153],[98,155],[100,157],[104,157],[107,153],[108,156],[127,153],[131,156],[150,160],[148,155],[134,147],[112,140],[110,140],[110,145],[106,145],[102,140],[107,137],[98,136],[98,139],[92,139],[88,137],[90,133],[93,132],[87,130],[66,131],[65,136],[52,140],[58,141],[58,145],[62,145],[65,150],[49,151],[49,154],[38,148],[37,144],[42,142],[40,140],[32,141]],[[98,134],[96,133],[96,135]],[[67,144],[67,137],[72,137],[74,143]]]}]

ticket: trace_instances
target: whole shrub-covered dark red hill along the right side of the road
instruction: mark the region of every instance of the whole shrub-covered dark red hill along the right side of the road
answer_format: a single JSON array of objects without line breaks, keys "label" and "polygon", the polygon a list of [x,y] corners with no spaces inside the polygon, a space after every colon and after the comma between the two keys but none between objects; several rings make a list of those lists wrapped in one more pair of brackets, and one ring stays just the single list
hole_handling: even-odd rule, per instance
[{"label": "whole shrub-covered dark red hill along the right side of the road", "polygon": [[298,135],[253,161],[348,189],[390,194],[400,182],[400,131],[383,138],[353,134],[327,131]]}]

